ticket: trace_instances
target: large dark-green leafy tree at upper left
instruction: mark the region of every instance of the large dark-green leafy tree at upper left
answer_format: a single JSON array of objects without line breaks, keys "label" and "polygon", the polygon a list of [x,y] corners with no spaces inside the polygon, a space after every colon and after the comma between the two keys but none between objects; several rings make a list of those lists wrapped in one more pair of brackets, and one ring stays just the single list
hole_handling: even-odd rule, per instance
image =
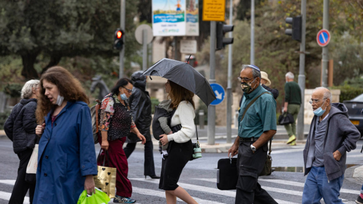
[{"label": "large dark-green leafy tree at upper left", "polygon": [[[126,4],[125,57],[134,55],[138,0]],[[25,78],[38,78],[37,57],[48,63],[41,73],[62,57],[117,56],[113,34],[119,27],[119,2],[111,0],[0,1],[0,55],[21,56]]]}]

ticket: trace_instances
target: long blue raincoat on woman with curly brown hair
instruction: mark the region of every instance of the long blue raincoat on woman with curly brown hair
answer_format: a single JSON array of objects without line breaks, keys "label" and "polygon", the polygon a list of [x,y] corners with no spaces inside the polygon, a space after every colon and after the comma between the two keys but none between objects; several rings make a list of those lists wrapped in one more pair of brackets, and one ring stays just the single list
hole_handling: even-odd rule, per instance
[{"label": "long blue raincoat on woman with curly brown hair", "polygon": [[85,102],[67,102],[53,123],[45,118],[39,141],[33,204],[76,204],[85,176],[97,175],[91,113]]}]

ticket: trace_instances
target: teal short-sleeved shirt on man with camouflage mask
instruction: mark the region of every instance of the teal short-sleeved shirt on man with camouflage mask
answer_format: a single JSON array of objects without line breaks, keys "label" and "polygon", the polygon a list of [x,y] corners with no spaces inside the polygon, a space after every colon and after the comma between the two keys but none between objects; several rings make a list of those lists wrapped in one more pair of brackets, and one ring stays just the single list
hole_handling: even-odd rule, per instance
[{"label": "teal short-sleeved shirt on man with camouflage mask", "polygon": [[[241,109],[238,114],[238,136],[241,138],[258,138],[263,132],[276,130],[276,101],[272,94],[262,94],[267,90],[261,85],[251,93],[243,94]],[[246,106],[258,95],[258,98],[247,110],[241,121]]]}]

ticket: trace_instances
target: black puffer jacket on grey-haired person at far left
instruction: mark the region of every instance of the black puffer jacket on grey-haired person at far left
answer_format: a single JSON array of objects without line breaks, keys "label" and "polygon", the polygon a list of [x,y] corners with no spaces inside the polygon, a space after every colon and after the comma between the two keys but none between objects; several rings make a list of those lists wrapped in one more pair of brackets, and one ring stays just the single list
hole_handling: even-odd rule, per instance
[{"label": "black puffer jacket on grey-haired person at far left", "polygon": [[37,127],[36,109],[37,99],[21,99],[14,106],[11,114],[5,121],[4,130],[8,138],[13,141],[13,148],[16,154],[27,148],[34,148],[37,140],[37,135],[35,134],[35,128]]}]

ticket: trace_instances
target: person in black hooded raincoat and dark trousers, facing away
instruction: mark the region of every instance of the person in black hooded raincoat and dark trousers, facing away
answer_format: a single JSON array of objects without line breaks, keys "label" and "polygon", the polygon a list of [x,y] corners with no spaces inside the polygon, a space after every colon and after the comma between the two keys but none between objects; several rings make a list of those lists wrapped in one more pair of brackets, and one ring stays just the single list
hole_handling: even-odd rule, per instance
[{"label": "person in black hooded raincoat and dark trousers, facing away", "polygon": [[[132,119],[134,119],[135,125],[142,135],[146,138],[145,150],[144,150],[144,175],[150,176],[153,179],[159,179],[159,176],[155,175],[154,167],[154,155],[152,152],[152,141],[150,135],[151,125],[151,100],[146,88],[146,77],[142,76],[142,71],[134,72],[131,75],[131,81],[134,84],[132,89],[132,95],[129,99]],[[123,149],[126,154],[126,158],[129,158],[132,151],[135,150],[136,142],[140,140],[132,132],[130,136],[126,138],[127,145]]]}]

